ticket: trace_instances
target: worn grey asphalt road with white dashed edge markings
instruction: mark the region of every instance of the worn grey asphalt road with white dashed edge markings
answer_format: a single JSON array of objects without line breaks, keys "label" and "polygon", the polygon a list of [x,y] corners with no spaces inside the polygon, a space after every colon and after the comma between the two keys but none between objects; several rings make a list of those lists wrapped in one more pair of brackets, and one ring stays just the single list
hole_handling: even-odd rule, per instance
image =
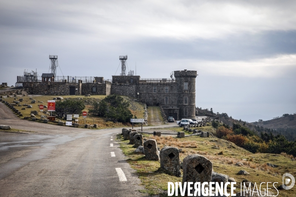
[{"label": "worn grey asphalt road with white dashed edge markings", "polygon": [[[3,103],[0,125],[34,131],[0,132],[0,197],[144,196],[138,192],[143,189],[139,178],[113,141],[121,128],[89,130],[21,120]],[[177,125],[161,127],[171,126]]]}]

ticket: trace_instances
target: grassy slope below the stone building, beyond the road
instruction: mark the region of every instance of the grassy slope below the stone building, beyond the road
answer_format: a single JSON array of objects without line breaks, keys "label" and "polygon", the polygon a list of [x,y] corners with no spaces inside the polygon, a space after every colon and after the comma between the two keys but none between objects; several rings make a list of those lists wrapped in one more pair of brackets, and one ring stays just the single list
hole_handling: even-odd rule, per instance
[{"label": "grassy slope below the stone building, beyond the road", "polygon": [[[31,114],[31,111],[37,111],[38,115],[36,115],[37,118],[41,118],[41,113],[40,113],[40,109],[38,107],[39,104],[43,104],[43,105],[47,105],[47,101],[48,100],[52,100],[53,98],[56,98],[59,96],[37,96],[37,95],[30,95],[30,96],[21,96],[21,97],[17,97],[17,99],[15,99],[15,97],[11,97],[11,98],[2,98],[2,100],[8,101],[9,103],[13,103],[14,100],[19,100],[19,99],[24,99],[22,102],[20,102],[20,104],[29,104],[32,105],[32,108],[27,108],[27,106],[14,106],[16,109],[18,109],[22,114],[23,117],[20,118],[24,118],[25,116],[29,116]],[[91,97],[84,97],[84,96],[61,96],[64,99],[66,98],[80,98],[84,101],[85,103],[85,109],[84,111],[87,111],[90,109],[91,107],[91,103],[92,101],[100,101],[102,99],[104,99],[106,96],[104,95],[94,95]],[[36,103],[31,103],[30,98],[33,98],[36,100]],[[128,98],[128,97],[123,97],[125,100],[128,100],[131,105],[130,105],[130,111],[132,112],[133,115],[136,115],[138,118],[143,118],[144,117],[144,104],[143,103],[139,103],[139,102],[135,102],[134,100]],[[43,102],[43,103],[42,103]],[[22,108],[26,108],[25,110],[22,110]],[[44,108],[43,111],[47,111],[47,108]],[[50,112],[49,112],[50,113]],[[44,114],[43,114],[44,115]],[[62,120],[65,122],[65,120],[58,118],[59,120]],[[38,122],[38,121],[37,121]],[[105,128],[113,128],[113,127],[131,127],[130,123],[113,123],[112,121],[106,121],[105,118],[101,118],[101,117],[97,117],[97,116],[93,116],[91,114],[88,114],[87,117],[85,118],[85,123],[84,123],[84,118],[82,117],[82,115],[79,117],[79,122],[80,125],[84,125],[84,124],[98,124],[99,129],[105,129]],[[49,124],[54,124],[54,123],[50,123]]]}]

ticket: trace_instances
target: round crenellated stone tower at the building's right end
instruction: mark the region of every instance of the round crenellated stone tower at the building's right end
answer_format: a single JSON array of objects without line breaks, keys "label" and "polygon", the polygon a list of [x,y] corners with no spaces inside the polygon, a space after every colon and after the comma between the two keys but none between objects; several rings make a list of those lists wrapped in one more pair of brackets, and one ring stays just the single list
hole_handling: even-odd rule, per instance
[{"label": "round crenellated stone tower at the building's right end", "polygon": [[195,119],[195,78],[197,71],[178,70],[174,71],[174,76],[177,83],[179,117],[180,119]]}]

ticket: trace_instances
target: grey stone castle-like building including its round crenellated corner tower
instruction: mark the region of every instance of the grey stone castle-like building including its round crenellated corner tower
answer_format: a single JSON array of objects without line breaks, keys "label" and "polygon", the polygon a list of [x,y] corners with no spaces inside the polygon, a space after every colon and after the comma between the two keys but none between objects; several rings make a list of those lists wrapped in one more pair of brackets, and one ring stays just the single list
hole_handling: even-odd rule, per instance
[{"label": "grey stone castle-like building including its round crenellated corner tower", "polygon": [[176,120],[195,118],[197,71],[174,71],[175,79],[141,79],[140,76],[112,76],[111,94],[134,97],[148,105],[162,105]]}]

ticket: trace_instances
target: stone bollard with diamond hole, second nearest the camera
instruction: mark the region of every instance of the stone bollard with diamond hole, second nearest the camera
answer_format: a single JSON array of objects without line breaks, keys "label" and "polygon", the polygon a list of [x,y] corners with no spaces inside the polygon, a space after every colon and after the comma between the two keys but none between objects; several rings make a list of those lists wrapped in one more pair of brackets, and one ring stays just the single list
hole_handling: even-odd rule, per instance
[{"label": "stone bollard with diamond hole, second nearest the camera", "polygon": [[160,167],[173,173],[174,176],[181,177],[179,149],[163,147],[160,151]]}]

